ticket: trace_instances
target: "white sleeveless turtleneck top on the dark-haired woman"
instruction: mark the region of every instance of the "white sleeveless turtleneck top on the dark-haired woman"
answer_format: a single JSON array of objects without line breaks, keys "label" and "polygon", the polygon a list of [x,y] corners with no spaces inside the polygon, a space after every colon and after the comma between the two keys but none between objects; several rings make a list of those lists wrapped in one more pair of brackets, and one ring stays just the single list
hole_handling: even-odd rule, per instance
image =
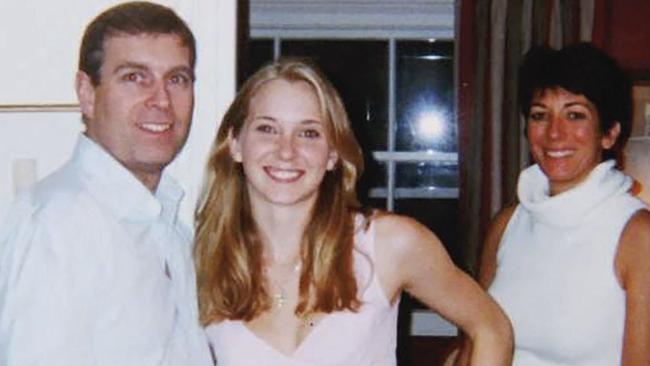
[{"label": "white sleeveless turtleneck top on the dark-haired woman", "polygon": [[514,365],[620,364],[625,291],[614,260],[626,223],[645,207],[631,185],[613,161],[552,197],[538,166],[521,173],[489,289],[512,321]]}]

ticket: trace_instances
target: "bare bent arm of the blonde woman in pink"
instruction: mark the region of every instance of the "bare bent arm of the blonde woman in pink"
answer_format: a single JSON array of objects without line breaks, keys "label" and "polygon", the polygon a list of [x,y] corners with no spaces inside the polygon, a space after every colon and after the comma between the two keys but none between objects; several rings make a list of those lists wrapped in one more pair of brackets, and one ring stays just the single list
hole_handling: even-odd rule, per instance
[{"label": "bare bent arm of the blonde woman in pink", "polygon": [[405,290],[462,329],[472,343],[470,365],[510,365],[508,318],[453,264],[440,240],[406,217],[376,220],[377,268],[386,293],[394,300]]}]

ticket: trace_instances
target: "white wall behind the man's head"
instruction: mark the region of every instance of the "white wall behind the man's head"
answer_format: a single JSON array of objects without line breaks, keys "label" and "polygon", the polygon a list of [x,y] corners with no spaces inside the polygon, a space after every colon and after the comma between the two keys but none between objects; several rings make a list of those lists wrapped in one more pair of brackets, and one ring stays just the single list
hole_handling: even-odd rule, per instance
[{"label": "white wall behind the man's head", "polygon": [[[34,170],[40,179],[72,151],[82,129],[74,107],[64,112],[24,107],[76,104],[73,80],[83,29],[119,2],[0,1],[0,214],[14,197],[14,178],[19,184],[29,181]],[[185,149],[170,167],[186,189],[181,214],[190,223],[209,144],[235,91],[236,0],[156,2],[174,8],[197,39],[194,122]]]}]

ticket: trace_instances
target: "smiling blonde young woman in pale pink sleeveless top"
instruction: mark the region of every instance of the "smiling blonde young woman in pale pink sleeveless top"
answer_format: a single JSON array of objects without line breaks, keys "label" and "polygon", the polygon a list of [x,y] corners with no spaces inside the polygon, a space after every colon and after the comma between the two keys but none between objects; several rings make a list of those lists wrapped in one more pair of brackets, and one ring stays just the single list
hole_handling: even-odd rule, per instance
[{"label": "smiling blonde young woman in pale pink sleeveless top", "polygon": [[360,208],[361,149],[313,66],[242,87],[197,212],[201,321],[220,366],[395,365],[402,291],[458,325],[472,364],[507,365],[510,324],[416,221]]}]

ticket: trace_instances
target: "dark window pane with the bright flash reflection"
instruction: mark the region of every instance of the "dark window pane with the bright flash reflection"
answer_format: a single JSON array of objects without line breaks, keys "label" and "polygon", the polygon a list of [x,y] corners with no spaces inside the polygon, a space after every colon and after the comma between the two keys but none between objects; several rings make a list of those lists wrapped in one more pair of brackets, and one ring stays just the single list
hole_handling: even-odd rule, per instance
[{"label": "dark window pane with the bright flash reflection", "polygon": [[457,151],[453,42],[397,42],[398,151]]}]

